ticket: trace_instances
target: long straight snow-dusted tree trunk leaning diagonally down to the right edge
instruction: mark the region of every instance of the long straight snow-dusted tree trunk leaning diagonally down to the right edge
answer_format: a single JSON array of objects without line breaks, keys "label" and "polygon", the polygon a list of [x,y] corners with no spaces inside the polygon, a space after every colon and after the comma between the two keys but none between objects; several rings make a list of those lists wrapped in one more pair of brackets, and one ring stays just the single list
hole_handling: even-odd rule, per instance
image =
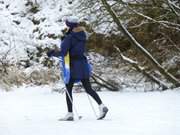
[{"label": "long straight snow-dusted tree trunk leaning diagonally down to the right edge", "polygon": [[116,15],[115,11],[111,8],[111,6],[107,3],[107,0],[101,0],[103,6],[108,11],[108,13],[113,18],[114,22],[117,24],[118,29],[123,32],[123,34],[128,38],[128,40],[131,42],[131,44],[139,50],[151,63],[152,65],[162,74],[164,77],[170,81],[174,87],[180,87],[180,81],[176,79],[172,74],[167,72],[159,63],[157,60],[153,58],[153,56],[141,46],[140,43],[136,41],[136,39],[129,33],[129,31],[124,27],[124,25],[121,23],[121,20]]}]

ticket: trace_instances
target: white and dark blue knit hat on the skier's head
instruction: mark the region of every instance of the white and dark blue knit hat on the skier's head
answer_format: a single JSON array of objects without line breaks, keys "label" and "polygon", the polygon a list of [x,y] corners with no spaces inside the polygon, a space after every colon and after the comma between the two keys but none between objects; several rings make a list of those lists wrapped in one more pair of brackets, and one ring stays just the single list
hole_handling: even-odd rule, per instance
[{"label": "white and dark blue knit hat on the skier's head", "polygon": [[66,25],[73,29],[74,27],[77,27],[79,24],[79,19],[76,16],[68,17],[65,21]]}]

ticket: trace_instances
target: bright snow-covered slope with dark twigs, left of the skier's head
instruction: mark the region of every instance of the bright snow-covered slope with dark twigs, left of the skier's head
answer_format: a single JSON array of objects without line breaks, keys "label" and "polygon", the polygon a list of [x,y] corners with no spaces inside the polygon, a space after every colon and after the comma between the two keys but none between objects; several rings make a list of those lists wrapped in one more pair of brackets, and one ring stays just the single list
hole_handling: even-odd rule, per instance
[{"label": "bright snow-covered slope with dark twigs, left of the skier's head", "polygon": [[58,45],[65,16],[73,14],[69,0],[1,0],[0,54],[18,61],[27,48]]}]

